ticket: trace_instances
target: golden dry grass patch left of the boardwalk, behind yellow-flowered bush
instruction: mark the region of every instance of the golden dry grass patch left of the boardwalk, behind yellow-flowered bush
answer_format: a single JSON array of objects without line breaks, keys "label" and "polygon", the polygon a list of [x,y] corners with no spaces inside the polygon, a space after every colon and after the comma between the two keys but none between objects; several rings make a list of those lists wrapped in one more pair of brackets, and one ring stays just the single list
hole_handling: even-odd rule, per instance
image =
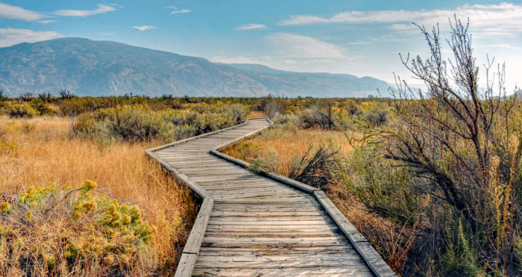
[{"label": "golden dry grass patch left of the boardwalk, behind yellow-flowered bush", "polygon": [[[153,247],[160,263],[173,269],[195,217],[189,190],[149,161],[144,150],[162,142],[97,142],[69,135],[70,119],[0,117],[0,191],[21,183],[40,187],[53,182],[77,188],[86,179],[145,210],[158,228]],[[14,144],[13,144],[14,143]],[[180,224],[180,222],[183,222]]]}]

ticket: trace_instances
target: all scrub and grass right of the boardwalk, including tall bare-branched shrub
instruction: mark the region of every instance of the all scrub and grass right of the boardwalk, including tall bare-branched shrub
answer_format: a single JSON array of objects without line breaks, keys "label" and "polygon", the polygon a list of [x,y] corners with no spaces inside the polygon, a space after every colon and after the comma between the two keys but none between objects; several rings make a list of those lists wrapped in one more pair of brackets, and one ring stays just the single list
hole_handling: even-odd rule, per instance
[{"label": "all scrub and grass right of the boardwalk, including tall bare-branched shrub", "polygon": [[273,101],[276,126],[224,152],[321,187],[401,275],[519,276],[517,88],[503,65],[479,69],[459,20],[448,41],[420,29],[431,56],[404,65],[427,91],[397,79],[393,100]]}]

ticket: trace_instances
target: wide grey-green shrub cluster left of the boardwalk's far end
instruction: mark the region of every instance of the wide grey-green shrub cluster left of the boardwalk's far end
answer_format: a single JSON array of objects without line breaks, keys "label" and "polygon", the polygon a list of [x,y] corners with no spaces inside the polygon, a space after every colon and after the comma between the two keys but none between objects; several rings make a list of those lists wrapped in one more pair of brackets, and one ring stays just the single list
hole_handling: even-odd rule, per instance
[{"label": "wide grey-green shrub cluster left of the boardwalk's far end", "polygon": [[72,127],[77,136],[179,140],[238,125],[247,113],[248,108],[241,104],[195,104],[188,113],[153,111],[145,104],[123,105],[81,114]]}]

